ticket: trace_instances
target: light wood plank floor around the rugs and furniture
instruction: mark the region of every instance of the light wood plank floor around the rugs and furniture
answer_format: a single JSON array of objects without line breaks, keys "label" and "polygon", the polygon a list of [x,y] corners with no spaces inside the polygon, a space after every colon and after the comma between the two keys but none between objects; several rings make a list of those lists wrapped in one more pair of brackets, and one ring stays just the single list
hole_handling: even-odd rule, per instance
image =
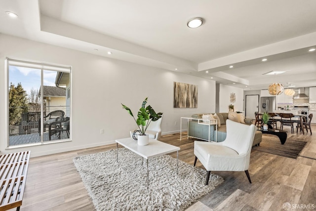
[{"label": "light wood plank floor around the rugs and furniture", "polygon": [[[288,131],[288,139],[308,142],[303,155],[316,158],[315,125],[312,127],[312,131],[315,131],[313,135],[303,135],[301,132],[291,134]],[[179,159],[193,164],[194,139],[180,142],[179,137],[179,134],[165,135],[161,141],[179,146]],[[73,164],[73,158],[115,148],[116,145],[112,144],[32,158],[21,211],[93,211],[93,204]],[[175,153],[171,155],[176,157]],[[197,166],[201,167],[199,162]],[[252,184],[244,172],[214,173],[221,175],[224,183],[189,207],[188,211],[276,211],[282,210],[285,202],[316,207],[314,159],[298,157],[295,160],[252,150],[249,168]]]}]

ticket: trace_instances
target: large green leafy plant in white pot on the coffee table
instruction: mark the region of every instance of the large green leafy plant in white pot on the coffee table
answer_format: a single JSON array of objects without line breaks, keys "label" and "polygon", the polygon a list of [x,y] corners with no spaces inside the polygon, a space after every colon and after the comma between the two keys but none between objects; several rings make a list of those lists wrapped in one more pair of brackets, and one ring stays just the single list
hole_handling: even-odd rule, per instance
[{"label": "large green leafy plant in white pot on the coffee table", "polygon": [[149,143],[148,135],[146,135],[147,127],[152,121],[155,122],[162,117],[162,113],[156,113],[150,105],[145,107],[147,101],[148,97],[146,97],[143,101],[142,106],[137,113],[137,119],[135,119],[132,111],[121,103],[123,109],[126,109],[128,113],[134,118],[137,127],[139,128],[139,134],[137,135],[137,143],[139,145],[147,145]]}]

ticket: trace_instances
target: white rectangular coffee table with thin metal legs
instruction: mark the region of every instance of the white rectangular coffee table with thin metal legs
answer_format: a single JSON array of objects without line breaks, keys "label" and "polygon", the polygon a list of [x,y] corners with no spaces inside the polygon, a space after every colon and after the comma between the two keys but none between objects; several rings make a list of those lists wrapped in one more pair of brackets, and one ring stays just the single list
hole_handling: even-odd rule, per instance
[{"label": "white rectangular coffee table with thin metal legs", "polygon": [[149,178],[149,170],[148,170],[148,160],[150,158],[158,157],[161,155],[165,155],[171,152],[177,152],[177,167],[179,168],[179,150],[180,147],[173,146],[171,144],[167,144],[161,141],[157,141],[155,139],[149,139],[149,144],[145,146],[141,146],[137,144],[137,141],[133,138],[122,138],[115,140],[117,142],[117,162],[118,162],[118,144],[122,145],[126,149],[136,153],[137,155],[143,157],[147,161],[147,181]]}]

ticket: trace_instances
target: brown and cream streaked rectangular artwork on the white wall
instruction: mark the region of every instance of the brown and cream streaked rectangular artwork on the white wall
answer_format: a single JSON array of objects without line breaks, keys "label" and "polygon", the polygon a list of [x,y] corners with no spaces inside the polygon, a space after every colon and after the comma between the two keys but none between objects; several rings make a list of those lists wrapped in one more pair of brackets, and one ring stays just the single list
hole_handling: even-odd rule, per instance
[{"label": "brown and cream streaked rectangular artwork on the white wall", "polygon": [[197,108],[197,85],[173,82],[173,108]]}]

